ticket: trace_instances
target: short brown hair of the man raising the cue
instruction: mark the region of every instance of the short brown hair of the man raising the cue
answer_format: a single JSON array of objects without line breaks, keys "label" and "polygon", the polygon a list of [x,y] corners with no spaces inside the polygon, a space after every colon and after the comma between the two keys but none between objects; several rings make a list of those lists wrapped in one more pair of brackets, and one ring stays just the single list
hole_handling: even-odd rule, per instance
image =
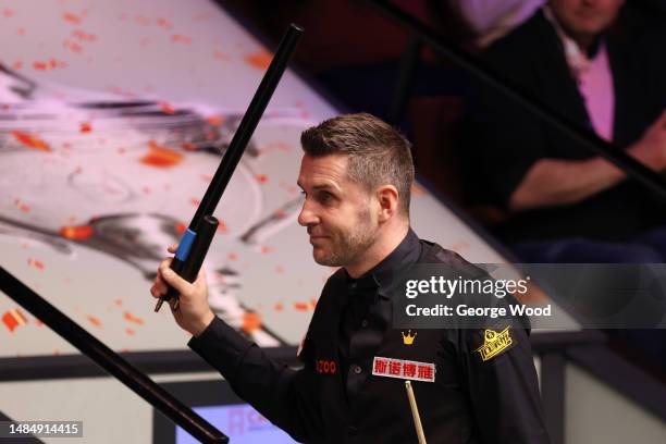
[{"label": "short brown hair of the man raising the cue", "polygon": [[370,192],[380,185],[395,186],[398,210],[409,215],[411,145],[386,122],[368,113],[338,115],[304,131],[300,145],[311,157],[347,155],[350,181]]}]

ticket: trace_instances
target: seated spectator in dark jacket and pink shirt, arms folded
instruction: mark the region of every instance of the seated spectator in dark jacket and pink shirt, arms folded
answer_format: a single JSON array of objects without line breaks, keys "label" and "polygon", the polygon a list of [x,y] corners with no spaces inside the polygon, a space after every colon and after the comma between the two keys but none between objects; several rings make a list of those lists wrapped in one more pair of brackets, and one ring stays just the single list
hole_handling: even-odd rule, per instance
[{"label": "seated spectator in dark jacket and pink shirt, arms folded", "polygon": [[[622,4],[552,0],[485,57],[550,108],[664,171],[664,32],[609,33]],[[479,176],[510,212],[496,233],[523,261],[664,261],[663,202],[529,111],[485,92]]]}]

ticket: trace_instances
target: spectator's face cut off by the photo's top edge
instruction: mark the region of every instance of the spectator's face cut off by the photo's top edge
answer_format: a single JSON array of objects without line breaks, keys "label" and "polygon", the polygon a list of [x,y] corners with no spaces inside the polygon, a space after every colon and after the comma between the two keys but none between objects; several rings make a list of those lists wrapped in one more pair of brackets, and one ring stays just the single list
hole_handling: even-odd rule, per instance
[{"label": "spectator's face cut off by the photo's top edge", "polygon": [[574,37],[594,37],[617,16],[625,0],[551,0],[550,5],[565,30]]}]

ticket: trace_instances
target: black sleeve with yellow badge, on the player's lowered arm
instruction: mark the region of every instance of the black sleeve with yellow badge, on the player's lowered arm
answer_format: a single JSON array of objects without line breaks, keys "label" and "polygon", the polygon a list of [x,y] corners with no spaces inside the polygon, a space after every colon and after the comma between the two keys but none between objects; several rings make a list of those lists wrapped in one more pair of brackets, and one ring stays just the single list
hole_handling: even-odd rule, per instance
[{"label": "black sleeve with yellow badge, on the player's lowered arm", "polygon": [[547,444],[528,331],[497,325],[459,337],[480,442]]}]

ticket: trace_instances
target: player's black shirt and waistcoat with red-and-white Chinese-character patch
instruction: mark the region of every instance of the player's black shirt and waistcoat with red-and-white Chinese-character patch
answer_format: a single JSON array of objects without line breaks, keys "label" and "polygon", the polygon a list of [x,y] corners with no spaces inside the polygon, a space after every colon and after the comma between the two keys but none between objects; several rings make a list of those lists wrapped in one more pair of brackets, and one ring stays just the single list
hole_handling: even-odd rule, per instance
[{"label": "player's black shirt and waistcoat with red-and-white Chinese-character patch", "polygon": [[409,232],[361,279],[349,280],[338,270],[317,304],[300,370],[268,358],[219,318],[188,345],[297,441],[417,443],[405,381],[375,373],[379,360],[399,360],[419,363],[424,375],[434,369],[430,379],[411,384],[430,444],[548,443],[527,330],[510,330],[510,347],[482,359],[478,350],[488,330],[421,329],[411,332],[416,340],[408,344],[407,332],[392,328],[393,304],[385,288],[409,263],[473,268]]}]

